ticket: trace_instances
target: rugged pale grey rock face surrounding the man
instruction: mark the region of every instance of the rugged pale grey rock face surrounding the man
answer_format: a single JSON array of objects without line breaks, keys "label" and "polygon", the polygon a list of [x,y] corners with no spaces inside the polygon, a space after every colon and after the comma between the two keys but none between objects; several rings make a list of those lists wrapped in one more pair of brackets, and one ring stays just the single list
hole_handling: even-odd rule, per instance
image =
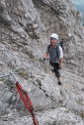
[{"label": "rugged pale grey rock face surrounding the man", "polygon": [[[82,23],[82,14],[68,0],[0,1],[0,75],[24,69],[16,76],[40,125],[84,125]],[[42,61],[53,32],[65,41],[63,86]],[[12,77],[0,79],[0,124],[33,125]]]}]

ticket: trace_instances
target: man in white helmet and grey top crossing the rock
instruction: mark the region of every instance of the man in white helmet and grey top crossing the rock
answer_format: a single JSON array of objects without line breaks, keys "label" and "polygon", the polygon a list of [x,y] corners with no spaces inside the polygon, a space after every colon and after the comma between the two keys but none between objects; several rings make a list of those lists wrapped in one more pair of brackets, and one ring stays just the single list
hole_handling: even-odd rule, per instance
[{"label": "man in white helmet and grey top crossing the rock", "polygon": [[62,85],[60,81],[60,73],[59,69],[61,69],[61,64],[63,62],[63,50],[60,45],[57,44],[58,42],[58,35],[53,33],[50,36],[50,44],[47,47],[46,54],[44,55],[44,60],[50,60],[50,64],[53,67],[53,72],[58,79],[58,85]]}]

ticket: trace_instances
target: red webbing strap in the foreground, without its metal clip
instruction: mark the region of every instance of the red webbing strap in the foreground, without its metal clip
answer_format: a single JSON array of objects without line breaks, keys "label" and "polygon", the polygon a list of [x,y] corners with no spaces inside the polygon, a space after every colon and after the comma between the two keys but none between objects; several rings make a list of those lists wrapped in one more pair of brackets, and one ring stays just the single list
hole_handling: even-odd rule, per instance
[{"label": "red webbing strap in the foreground, without its metal clip", "polygon": [[33,104],[31,102],[30,98],[28,97],[27,93],[24,91],[24,89],[19,84],[19,82],[16,82],[16,88],[18,90],[18,93],[20,94],[22,101],[24,102],[24,105],[26,106],[27,110],[31,113],[34,124],[39,125],[37,122],[37,119],[33,113],[33,110],[34,110]]}]

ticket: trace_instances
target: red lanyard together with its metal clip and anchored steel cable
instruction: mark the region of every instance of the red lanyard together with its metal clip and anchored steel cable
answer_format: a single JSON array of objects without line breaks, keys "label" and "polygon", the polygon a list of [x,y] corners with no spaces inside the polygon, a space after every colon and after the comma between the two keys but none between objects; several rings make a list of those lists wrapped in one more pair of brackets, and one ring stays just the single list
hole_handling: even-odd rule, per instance
[{"label": "red lanyard together with its metal clip and anchored steel cable", "polygon": [[34,122],[34,125],[39,125],[37,122],[36,116],[34,114],[33,104],[32,104],[32,102],[27,94],[27,91],[22,88],[22,86],[19,84],[19,82],[15,76],[15,74],[20,72],[20,70],[22,70],[22,69],[11,71],[9,74],[0,76],[0,78],[11,76],[11,75],[13,76],[13,78],[15,80],[16,88],[17,88],[18,93],[20,95],[20,98],[24,102],[24,105],[26,106],[27,110],[30,112],[32,119],[33,119],[33,122]]}]

